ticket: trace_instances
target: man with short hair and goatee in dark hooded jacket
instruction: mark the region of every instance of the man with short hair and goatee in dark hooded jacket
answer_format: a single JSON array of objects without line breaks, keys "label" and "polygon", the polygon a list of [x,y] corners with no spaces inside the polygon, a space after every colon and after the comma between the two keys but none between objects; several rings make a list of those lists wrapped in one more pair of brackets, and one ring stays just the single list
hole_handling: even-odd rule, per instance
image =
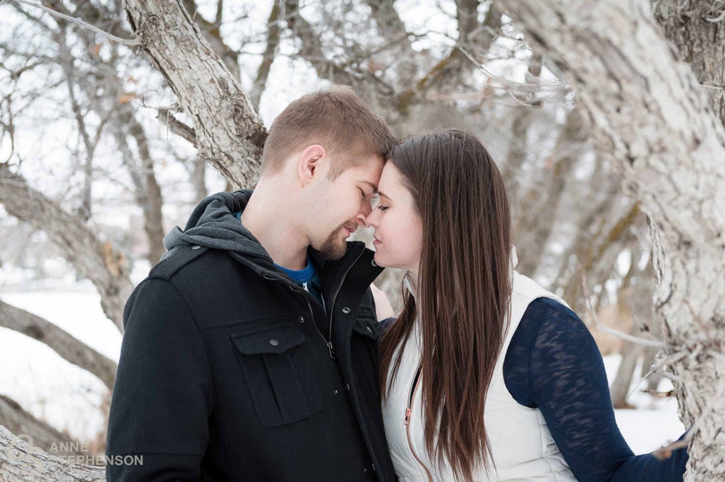
[{"label": "man with short hair and goatee in dark hooded jacket", "polygon": [[124,312],[109,482],[394,481],[362,242],[394,138],[352,89],[291,103],[257,187],[202,200]]}]

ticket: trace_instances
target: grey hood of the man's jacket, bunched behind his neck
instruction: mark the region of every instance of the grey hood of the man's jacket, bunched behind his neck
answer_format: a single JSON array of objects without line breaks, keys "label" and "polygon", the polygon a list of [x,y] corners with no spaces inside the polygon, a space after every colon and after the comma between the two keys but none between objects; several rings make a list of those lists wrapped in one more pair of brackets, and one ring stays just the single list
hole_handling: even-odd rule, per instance
[{"label": "grey hood of the man's jacket, bunched behind his neck", "polygon": [[246,189],[234,193],[217,193],[202,199],[191,212],[184,230],[176,226],[164,237],[164,247],[168,251],[162,259],[174,248],[200,245],[262,258],[271,264],[273,261],[267,250],[233,216],[237,211],[244,211],[252,192]]}]

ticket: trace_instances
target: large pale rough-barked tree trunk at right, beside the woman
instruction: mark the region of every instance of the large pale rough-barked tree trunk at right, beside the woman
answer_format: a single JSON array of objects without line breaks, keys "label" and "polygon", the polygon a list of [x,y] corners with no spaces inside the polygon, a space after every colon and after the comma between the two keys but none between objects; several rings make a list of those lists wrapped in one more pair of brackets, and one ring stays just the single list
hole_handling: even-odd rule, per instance
[{"label": "large pale rough-barked tree trunk at right, beside the woman", "polygon": [[652,221],[655,310],[668,352],[682,355],[670,365],[682,381],[682,418],[697,423],[685,480],[725,480],[723,127],[649,4],[505,4],[566,73],[595,147]]}]

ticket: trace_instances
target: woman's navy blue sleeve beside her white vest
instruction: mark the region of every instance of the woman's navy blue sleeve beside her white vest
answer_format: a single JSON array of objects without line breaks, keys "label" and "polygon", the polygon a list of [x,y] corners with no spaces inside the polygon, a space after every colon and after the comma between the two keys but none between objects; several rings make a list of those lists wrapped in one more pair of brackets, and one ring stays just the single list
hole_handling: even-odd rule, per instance
[{"label": "woman's navy blue sleeve beside her white vest", "polygon": [[505,356],[508,391],[521,405],[541,410],[580,482],[682,481],[686,449],[663,461],[629,449],[614,418],[602,356],[572,310],[534,300]]}]

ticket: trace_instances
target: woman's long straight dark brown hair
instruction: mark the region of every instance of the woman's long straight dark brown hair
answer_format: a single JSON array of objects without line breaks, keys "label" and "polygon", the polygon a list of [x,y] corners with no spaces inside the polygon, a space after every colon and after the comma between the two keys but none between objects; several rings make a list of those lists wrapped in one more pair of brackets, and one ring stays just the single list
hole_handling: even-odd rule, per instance
[{"label": "woman's long straight dark brown hair", "polygon": [[479,140],[460,130],[409,138],[389,161],[413,195],[423,248],[418,303],[406,293],[402,313],[381,337],[381,387],[388,397],[402,355],[395,350],[418,310],[426,449],[439,465],[450,463],[455,478],[471,482],[474,470],[492,466],[484,408],[508,326],[510,211],[503,179]]}]

